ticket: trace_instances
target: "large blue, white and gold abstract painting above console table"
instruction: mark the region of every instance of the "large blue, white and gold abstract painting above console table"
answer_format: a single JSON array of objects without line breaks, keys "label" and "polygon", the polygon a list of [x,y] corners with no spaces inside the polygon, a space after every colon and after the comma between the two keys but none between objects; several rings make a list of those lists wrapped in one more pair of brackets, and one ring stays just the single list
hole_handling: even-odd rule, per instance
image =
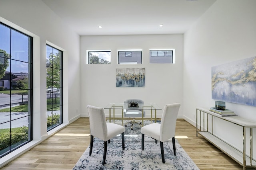
[{"label": "large blue, white and gold abstract painting above console table", "polygon": [[256,106],[256,57],[212,67],[212,99]]}]

